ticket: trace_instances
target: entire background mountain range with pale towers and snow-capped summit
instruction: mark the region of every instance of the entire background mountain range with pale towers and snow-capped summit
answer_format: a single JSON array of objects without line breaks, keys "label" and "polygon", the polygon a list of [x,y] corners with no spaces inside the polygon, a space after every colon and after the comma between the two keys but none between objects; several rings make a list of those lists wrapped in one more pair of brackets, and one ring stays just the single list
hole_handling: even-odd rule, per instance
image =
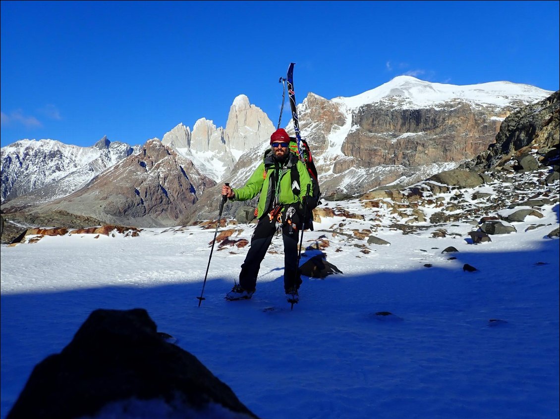
[{"label": "entire background mountain range with pale towers and snow-capped summit", "polygon": [[[404,187],[484,153],[487,161],[493,153],[495,164],[499,156],[520,149],[519,144],[511,150],[493,146],[507,118],[552,93],[509,82],[457,86],[400,76],[349,98],[309,93],[298,115],[328,199]],[[545,107],[536,105],[533,114]],[[2,212],[27,222],[64,213],[77,224],[88,217],[100,224],[146,227],[208,219],[217,209],[218,183],[244,184],[274,129],[268,116],[240,95],[225,128],[201,118],[192,131],[180,123],[161,141],[143,146],[106,137],[92,147],[17,141],[1,150]],[[293,134],[291,121],[286,129]],[[527,135],[535,134],[530,131]],[[552,133],[545,147],[554,145]]]}]

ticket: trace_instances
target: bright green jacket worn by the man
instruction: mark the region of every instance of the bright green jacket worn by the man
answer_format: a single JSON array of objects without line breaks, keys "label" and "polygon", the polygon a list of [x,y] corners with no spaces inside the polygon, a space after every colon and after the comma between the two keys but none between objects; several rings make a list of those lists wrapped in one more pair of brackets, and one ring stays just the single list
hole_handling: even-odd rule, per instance
[{"label": "bright green jacket worn by the man", "polygon": [[[292,190],[292,166],[296,165],[297,172],[300,174],[300,193],[295,194]],[[234,197],[231,198],[233,201],[247,201],[248,199],[253,199],[260,193],[259,203],[257,204],[257,218],[263,216],[265,211],[270,210],[270,206],[274,202],[276,196],[272,196],[275,185],[278,182],[278,177],[276,175],[277,170],[280,173],[279,191],[275,191],[275,195],[278,197],[278,203],[293,204],[300,203],[305,197],[307,192],[307,185],[310,186],[310,195],[313,194],[313,186],[311,184],[311,178],[307,172],[305,164],[297,158],[293,153],[288,154],[288,159],[283,166],[279,166],[279,163],[273,159],[272,154],[265,154],[263,163],[259,164],[255,172],[244,187],[232,189],[234,191]],[[274,175],[273,175],[274,174]],[[294,185],[296,186],[296,185]]]}]

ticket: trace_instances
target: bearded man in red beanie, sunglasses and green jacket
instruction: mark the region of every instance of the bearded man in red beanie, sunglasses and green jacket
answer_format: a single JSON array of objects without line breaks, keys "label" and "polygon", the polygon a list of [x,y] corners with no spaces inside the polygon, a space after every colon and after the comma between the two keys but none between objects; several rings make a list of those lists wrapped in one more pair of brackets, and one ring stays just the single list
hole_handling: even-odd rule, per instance
[{"label": "bearded man in red beanie, sunglasses and green jacket", "polygon": [[260,263],[267,254],[272,237],[282,231],[284,242],[284,291],[289,302],[299,299],[301,279],[297,266],[297,239],[302,228],[307,185],[311,178],[296,154],[290,151],[290,136],[279,128],[270,136],[271,153],[251,175],[244,187],[232,189],[224,185],[222,195],[233,201],[253,199],[260,193],[257,205],[259,222],[251,236],[251,246],[241,265],[239,284],[227,293],[226,299],[247,299],[253,296]]}]

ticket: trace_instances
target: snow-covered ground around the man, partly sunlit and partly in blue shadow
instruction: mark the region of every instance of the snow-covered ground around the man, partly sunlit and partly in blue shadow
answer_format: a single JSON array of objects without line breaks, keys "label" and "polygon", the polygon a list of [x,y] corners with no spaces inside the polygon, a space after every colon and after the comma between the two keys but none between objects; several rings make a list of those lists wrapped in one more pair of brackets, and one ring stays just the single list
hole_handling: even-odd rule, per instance
[{"label": "snow-covered ground around the man, partly sunlit and partly in blue shadow", "polygon": [[[281,237],[253,298],[223,298],[248,251],[232,242],[250,240],[252,224],[219,227],[234,231],[214,248],[200,307],[212,225],[2,245],[1,416],[34,366],[59,353],[93,310],[142,307],[263,419],[556,418],[559,240],[548,234],[559,226],[558,181],[545,186],[542,174],[512,173],[419,204],[427,215],[458,205],[448,211],[454,221],[397,222],[391,209],[400,202],[389,198],[329,202],[333,212],[304,232],[301,262],[323,254],[343,273],[304,277],[293,311]],[[540,216],[473,244],[482,216],[531,211],[508,206],[534,196],[550,199]],[[95,418],[175,419],[185,417],[181,407],[122,401]]]}]

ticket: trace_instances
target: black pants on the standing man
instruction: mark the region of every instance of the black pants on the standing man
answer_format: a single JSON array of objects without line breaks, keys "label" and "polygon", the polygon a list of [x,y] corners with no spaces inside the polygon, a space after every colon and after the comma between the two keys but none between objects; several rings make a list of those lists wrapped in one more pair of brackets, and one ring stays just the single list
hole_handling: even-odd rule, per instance
[{"label": "black pants on the standing man", "polygon": [[[284,241],[284,290],[292,287],[300,288],[301,278],[297,266],[297,239],[299,229],[292,230],[290,225],[282,226],[282,240]],[[276,220],[270,221],[268,215],[260,218],[251,236],[251,247],[244,263],[241,265],[239,284],[242,288],[252,291],[256,288],[256,277],[259,275],[260,263],[267,254],[272,237],[276,233]]]}]

